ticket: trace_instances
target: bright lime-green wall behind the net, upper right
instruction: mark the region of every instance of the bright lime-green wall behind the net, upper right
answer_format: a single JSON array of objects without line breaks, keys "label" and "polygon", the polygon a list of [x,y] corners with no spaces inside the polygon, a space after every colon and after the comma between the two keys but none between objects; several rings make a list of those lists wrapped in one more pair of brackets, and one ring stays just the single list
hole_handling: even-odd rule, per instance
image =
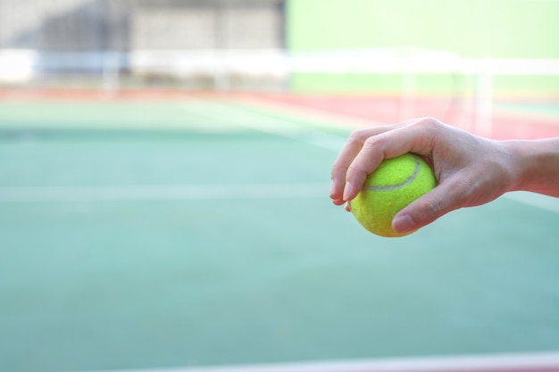
[{"label": "bright lime-green wall behind the net, upper right", "polygon": [[[291,52],[418,47],[471,58],[559,59],[559,1],[554,0],[288,0],[286,29]],[[444,91],[456,77],[420,80],[420,88]],[[470,80],[462,77],[461,84]],[[398,90],[401,77],[305,73],[293,77],[292,87]],[[499,77],[494,87],[553,93],[559,91],[559,78]]]}]

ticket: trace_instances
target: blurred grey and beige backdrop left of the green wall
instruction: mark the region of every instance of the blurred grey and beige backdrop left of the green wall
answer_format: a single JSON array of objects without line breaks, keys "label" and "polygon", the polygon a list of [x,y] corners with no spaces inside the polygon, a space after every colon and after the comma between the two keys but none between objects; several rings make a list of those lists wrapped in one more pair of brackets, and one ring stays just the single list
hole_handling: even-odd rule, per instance
[{"label": "blurred grey and beige backdrop left of the green wall", "polygon": [[[238,86],[226,80],[248,79],[254,69],[276,78],[269,86],[285,79],[285,71],[250,62],[283,55],[283,2],[3,1],[2,14],[6,84],[227,89]],[[229,56],[249,64],[229,70]]]}]

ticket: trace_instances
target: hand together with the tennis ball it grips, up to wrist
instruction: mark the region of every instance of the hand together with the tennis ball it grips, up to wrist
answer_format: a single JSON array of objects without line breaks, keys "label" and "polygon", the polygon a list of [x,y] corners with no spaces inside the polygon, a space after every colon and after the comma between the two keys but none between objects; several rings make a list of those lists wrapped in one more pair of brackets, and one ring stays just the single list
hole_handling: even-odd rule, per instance
[{"label": "hand together with the tennis ball it grips, up to wrist", "polygon": [[406,236],[519,186],[514,151],[432,118],[357,130],[332,167],[330,198],[372,233]]}]

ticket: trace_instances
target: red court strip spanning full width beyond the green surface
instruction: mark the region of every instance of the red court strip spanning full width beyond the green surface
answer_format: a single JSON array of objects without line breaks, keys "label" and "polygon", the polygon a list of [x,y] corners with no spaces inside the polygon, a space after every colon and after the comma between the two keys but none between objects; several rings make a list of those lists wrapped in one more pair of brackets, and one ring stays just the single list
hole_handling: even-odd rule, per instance
[{"label": "red court strip spanning full width beyond the green surface", "polygon": [[[394,124],[433,117],[457,128],[495,139],[537,139],[559,136],[559,95],[496,100],[480,109],[475,98],[452,95],[291,95],[246,92],[192,92],[179,89],[0,89],[0,100],[38,101],[243,101],[276,110],[320,113],[347,120],[348,127]],[[542,110],[544,108],[545,110]]]}]

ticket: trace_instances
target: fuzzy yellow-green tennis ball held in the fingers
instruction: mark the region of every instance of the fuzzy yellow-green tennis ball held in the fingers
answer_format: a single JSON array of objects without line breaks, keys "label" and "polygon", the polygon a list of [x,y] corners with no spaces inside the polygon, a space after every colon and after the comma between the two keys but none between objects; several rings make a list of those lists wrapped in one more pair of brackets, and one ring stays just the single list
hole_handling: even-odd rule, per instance
[{"label": "fuzzy yellow-green tennis ball held in the fingers", "polygon": [[413,153],[382,161],[365,180],[363,189],[349,202],[355,219],[378,236],[398,237],[392,219],[398,211],[437,184],[430,166]]}]

